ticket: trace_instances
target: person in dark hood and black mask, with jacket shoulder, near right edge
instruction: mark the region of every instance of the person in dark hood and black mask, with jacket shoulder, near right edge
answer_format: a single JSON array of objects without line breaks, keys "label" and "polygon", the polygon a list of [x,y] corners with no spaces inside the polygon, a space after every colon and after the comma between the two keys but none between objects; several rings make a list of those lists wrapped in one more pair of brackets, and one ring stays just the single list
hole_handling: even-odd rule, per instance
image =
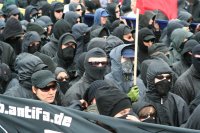
[{"label": "person in dark hood and black mask, with jacket shoulder, near right edge", "polygon": [[185,43],[181,52],[181,60],[172,65],[172,70],[178,75],[178,77],[192,65],[192,49],[198,44],[199,43],[193,39]]}]

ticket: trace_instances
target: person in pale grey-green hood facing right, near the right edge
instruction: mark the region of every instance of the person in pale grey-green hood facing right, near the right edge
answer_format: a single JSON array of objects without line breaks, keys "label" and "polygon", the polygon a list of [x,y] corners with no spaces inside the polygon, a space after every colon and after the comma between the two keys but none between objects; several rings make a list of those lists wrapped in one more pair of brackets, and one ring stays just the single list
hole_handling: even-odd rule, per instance
[{"label": "person in pale grey-green hood facing right, near the right edge", "polygon": [[171,44],[169,49],[169,60],[171,63],[180,61],[181,52],[185,45],[185,39],[189,39],[193,34],[184,29],[176,29],[171,34]]}]

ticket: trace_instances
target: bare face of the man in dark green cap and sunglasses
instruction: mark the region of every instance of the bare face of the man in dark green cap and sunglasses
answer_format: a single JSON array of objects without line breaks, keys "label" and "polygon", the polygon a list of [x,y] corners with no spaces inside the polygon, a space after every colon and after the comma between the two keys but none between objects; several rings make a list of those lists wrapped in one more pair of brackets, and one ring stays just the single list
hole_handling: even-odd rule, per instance
[{"label": "bare face of the man in dark green cap and sunglasses", "polygon": [[[48,84],[48,86],[53,85],[55,82],[50,82]],[[36,96],[44,102],[47,103],[53,103],[55,96],[56,96],[56,91],[57,89],[51,88],[49,91],[43,91],[39,88],[35,88],[34,86],[32,86],[32,91],[33,93],[36,94]]]}]

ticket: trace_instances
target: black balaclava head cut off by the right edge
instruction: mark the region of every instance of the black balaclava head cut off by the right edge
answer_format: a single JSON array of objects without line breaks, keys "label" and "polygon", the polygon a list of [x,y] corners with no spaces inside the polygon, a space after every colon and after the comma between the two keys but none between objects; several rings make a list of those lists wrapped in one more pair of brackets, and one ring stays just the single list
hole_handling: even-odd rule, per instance
[{"label": "black balaclava head cut off by the right edge", "polygon": [[194,65],[194,68],[200,73],[200,58],[194,57],[196,54],[200,55],[199,44],[192,49],[192,64]]}]

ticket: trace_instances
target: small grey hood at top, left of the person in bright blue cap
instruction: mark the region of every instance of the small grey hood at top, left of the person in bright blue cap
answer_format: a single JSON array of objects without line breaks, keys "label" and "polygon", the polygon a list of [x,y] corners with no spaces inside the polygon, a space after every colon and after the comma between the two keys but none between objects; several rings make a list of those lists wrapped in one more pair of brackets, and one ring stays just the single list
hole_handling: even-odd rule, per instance
[{"label": "small grey hood at top, left of the person in bright blue cap", "polygon": [[79,14],[68,11],[65,13],[64,20],[69,23],[70,27],[76,24],[77,18],[81,17]]}]

